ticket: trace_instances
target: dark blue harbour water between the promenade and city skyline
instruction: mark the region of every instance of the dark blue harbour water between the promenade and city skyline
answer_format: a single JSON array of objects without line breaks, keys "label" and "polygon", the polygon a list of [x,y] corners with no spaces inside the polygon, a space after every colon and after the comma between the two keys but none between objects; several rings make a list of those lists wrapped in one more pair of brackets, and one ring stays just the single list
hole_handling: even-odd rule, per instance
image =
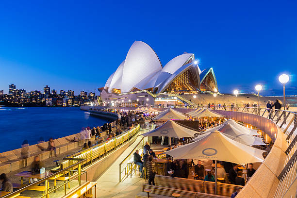
[{"label": "dark blue harbour water between the promenade and city skyline", "polygon": [[79,107],[0,107],[0,153],[20,148],[25,139],[33,145],[40,137],[56,139],[106,122]]}]

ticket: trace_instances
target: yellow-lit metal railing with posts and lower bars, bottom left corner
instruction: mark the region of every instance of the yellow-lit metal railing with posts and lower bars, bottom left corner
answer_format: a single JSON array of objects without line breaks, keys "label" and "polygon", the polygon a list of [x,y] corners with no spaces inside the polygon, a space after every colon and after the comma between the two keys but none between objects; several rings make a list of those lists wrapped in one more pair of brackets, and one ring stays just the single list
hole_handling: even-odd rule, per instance
[{"label": "yellow-lit metal railing with posts and lower bars, bottom left corner", "polygon": [[[79,184],[78,186],[81,186],[82,185],[82,182],[81,182],[82,181],[82,178],[81,178],[82,174],[85,174],[85,182],[87,181],[86,172],[82,171],[82,168],[81,168],[83,162],[85,162],[86,159],[76,159],[76,160],[79,160],[79,162],[77,162],[77,163],[75,163],[75,164],[73,164],[71,166],[68,166],[67,168],[62,169],[62,170],[60,170],[60,171],[58,171],[58,172],[56,172],[54,174],[51,174],[51,175],[49,175],[49,176],[47,176],[47,177],[45,177],[43,179],[40,179],[40,180],[35,181],[33,183],[30,183],[30,184],[28,184],[28,185],[26,185],[26,186],[24,186],[24,187],[22,187],[22,188],[20,188],[20,189],[18,189],[16,191],[12,192],[12,193],[9,193],[9,194],[1,197],[1,198],[14,198],[14,197],[18,196],[21,192],[23,192],[25,190],[28,190],[28,189],[32,188],[33,186],[37,186],[38,184],[40,184],[42,182],[45,182],[45,193],[39,198],[49,198],[50,193],[56,192],[56,190],[58,190],[59,188],[62,188],[62,187],[64,187],[64,196],[65,196],[67,194],[66,189],[67,189],[67,185],[68,185],[69,182],[75,180],[75,181],[78,181],[78,184]],[[75,166],[77,166],[77,170],[72,170],[72,168],[75,167]],[[70,177],[69,180],[64,182],[62,185],[59,185],[59,186],[57,186],[55,188],[52,188],[52,189],[49,188],[49,180],[53,180],[51,178],[54,178],[55,176],[60,175],[60,174],[65,175],[66,172],[71,172],[71,171],[76,172],[77,175],[74,175],[74,176]],[[72,192],[72,190],[69,189],[69,192]]]}]

